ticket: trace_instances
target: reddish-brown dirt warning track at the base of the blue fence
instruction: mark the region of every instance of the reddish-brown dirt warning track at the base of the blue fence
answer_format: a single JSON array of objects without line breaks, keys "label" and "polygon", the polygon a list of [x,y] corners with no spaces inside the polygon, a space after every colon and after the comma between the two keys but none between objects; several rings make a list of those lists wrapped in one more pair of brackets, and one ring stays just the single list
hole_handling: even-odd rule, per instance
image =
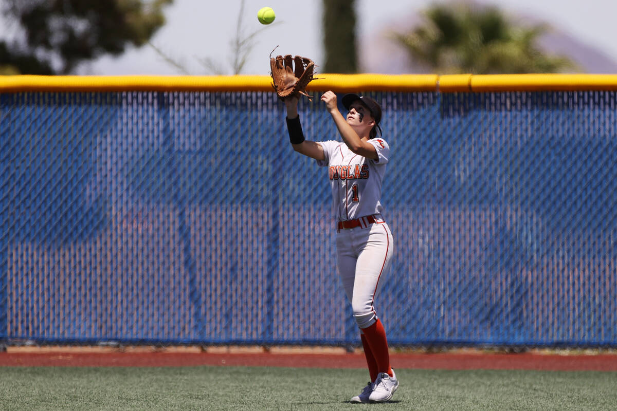
[{"label": "reddish-brown dirt warning track at the base of the blue fence", "polygon": [[[617,371],[617,354],[413,353],[391,354],[395,368],[444,370]],[[363,354],[210,352],[2,352],[0,366],[186,367],[199,365],[365,368]]]}]

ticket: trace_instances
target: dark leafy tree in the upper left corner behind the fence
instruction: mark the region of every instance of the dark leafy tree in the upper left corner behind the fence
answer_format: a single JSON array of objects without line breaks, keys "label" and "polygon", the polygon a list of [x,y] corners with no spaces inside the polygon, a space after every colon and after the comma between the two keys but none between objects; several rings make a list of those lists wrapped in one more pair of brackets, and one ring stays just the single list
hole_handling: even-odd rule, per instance
[{"label": "dark leafy tree in the upper left corner behind the fence", "polygon": [[0,73],[67,75],[80,63],[143,46],[173,0],[4,0],[15,33],[0,39]]}]

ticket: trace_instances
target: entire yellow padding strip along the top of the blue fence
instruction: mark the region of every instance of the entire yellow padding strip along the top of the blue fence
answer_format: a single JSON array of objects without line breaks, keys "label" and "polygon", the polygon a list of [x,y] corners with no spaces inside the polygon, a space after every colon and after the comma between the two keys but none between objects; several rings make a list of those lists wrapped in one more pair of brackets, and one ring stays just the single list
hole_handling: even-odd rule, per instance
[{"label": "entire yellow padding strip along the top of the blue fence", "polygon": [[[617,75],[321,74],[309,91],[617,91]],[[437,88],[439,87],[439,88]],[[0,92],[273,91],[270,76],[0,76]]]}]

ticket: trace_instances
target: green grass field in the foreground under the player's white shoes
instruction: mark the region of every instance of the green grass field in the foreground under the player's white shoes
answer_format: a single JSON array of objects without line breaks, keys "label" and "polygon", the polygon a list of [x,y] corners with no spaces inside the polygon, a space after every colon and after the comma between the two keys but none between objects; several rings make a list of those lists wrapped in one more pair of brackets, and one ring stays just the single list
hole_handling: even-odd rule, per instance
[{"label": "green grass field in the foreground under the player's white shoes", "polygon": [[392,402],[351,404],[365,370],[265,367],[0,367],[10,410],[617,409],[617,372],[396,370]]}]

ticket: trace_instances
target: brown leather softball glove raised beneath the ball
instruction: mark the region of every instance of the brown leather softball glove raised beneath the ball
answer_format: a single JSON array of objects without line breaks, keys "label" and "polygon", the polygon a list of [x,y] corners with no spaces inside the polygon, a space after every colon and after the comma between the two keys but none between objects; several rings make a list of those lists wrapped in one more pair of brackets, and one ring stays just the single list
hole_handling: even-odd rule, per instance
[{"label": "brown leather softball glove raised beneath the ball", "polygon": [[270,57],[270,76],[272,77],[272,87],[274,87],[276,94],[282,99],[288,96],[309,97],[309,101],[312,98],[306,92],[305,88],[313,78],[313,70],[315,70],[315,63],[313,60],[307,57],[291,57],[291,54],[286,56],[277,55]]}]

